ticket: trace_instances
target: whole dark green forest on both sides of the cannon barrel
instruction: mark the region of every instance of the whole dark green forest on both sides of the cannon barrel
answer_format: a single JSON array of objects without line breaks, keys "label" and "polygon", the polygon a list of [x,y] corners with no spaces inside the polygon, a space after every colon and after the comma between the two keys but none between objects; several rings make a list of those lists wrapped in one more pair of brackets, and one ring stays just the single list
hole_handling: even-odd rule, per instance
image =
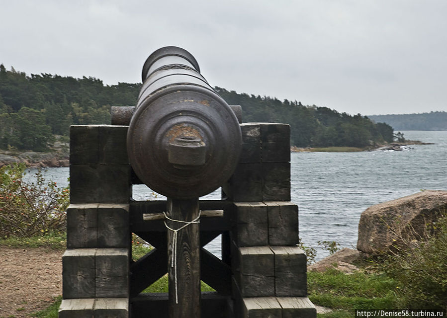
[{"label": "whole dark green forest on both sides of the cannon barrel", "polygon": [[[0,65],[0,148],[45,151],[54,135],[68,136],[70,125],[108,124],[110,106],[135,104],[141,83],[104,85],[102,80],[27,76]],[[297,147],[366,147],[392,142],[393,128],[328,107],[228,91],[215,87],[230,105],[241,105],[244,122],[291,125],[291,145]]]}]

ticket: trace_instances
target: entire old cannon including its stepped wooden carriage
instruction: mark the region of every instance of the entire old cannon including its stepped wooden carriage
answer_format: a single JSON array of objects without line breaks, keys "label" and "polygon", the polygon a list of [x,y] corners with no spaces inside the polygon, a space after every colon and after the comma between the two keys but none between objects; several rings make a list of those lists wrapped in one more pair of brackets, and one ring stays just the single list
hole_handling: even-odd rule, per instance
[{"label": "entire old cannon including its stepped wooden carriage", "polygon": [[[315,318],[290,126],[242,123],[178,47],[152,53],[142,79],[136,106],[112,107],[112,125],[70,128],[59,317]],[[142,183],[167,200],[136,200]],[[220,200],[198,199],[219,186]],[[131,233],[154,247],[138,260]],[[221,259],[205,248],[219,237]],[[169,293],[144,293],[166,273]]]}]

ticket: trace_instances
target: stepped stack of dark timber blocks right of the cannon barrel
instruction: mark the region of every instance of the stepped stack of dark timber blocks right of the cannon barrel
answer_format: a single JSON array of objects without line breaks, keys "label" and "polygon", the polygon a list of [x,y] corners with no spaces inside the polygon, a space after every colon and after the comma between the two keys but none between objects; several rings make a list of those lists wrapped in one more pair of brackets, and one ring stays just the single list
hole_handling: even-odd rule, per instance
[{"label": "stepped stack of dark timber blocks right of the cannon barrel", "polygon": [[241,124],[240,163],[222,187],[233,201],[231,263],[237,318],[315,318],[298,207],[290,202],[290,126]]}]

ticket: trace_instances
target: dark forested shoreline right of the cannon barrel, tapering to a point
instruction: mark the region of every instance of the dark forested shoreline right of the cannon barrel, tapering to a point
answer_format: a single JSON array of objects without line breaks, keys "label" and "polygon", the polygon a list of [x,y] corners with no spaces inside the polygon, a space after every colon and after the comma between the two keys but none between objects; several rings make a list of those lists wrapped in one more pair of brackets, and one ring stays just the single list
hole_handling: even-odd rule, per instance
[{"label": "dark forested shoreline right of the cannon barrel, tapering to a point", "polygon": [[392,142],[393,128],[368,117],[339,113],[328,107],[303,105],[268,96],[239,94],[214,88],[230,105],[242,106],[244,122],[286,123],[291,126],[291,145],[297,147],[367,147]]}]

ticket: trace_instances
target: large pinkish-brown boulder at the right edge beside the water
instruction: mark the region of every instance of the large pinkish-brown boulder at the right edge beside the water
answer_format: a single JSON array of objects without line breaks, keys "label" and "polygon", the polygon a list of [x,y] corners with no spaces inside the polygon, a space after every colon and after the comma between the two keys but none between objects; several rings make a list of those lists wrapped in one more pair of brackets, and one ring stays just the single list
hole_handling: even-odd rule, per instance
[{"label": "large pinkish-brown boulder at the right edge beside the water", "polygon": [[379,255],[392,245],[423,239],[447,209],[447,191],[426,190],[367,208],[358,223],[357,249]]}]

